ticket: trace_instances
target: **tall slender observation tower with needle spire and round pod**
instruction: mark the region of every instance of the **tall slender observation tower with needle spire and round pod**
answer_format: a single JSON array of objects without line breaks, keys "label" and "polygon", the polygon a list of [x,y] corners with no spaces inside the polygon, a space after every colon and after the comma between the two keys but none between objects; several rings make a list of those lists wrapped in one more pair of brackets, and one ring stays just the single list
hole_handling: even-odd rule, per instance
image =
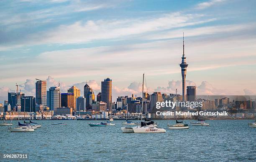
[{"label": "tall slender observation tower with needle spire and round pod", "polygon": [[183,32],[183,55],[182,55],[182,63],[179,64],[182,68],[182,100],[186,100],[186,75],[187,75],[187,62],[186,62],[186,55],[184,54],[184,32]]}]

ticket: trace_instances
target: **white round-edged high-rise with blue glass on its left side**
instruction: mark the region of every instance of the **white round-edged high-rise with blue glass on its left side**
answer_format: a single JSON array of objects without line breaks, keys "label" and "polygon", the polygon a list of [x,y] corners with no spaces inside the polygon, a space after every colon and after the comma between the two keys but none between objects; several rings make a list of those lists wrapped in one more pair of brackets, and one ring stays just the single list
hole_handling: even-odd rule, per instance
[{"label": "white round-edged high-rise with blue glass on its left side", "polygon": [[50,87],[47,91],[47,106],[56,114],[57,108],[61,107],[61,91],[60,87]]}]

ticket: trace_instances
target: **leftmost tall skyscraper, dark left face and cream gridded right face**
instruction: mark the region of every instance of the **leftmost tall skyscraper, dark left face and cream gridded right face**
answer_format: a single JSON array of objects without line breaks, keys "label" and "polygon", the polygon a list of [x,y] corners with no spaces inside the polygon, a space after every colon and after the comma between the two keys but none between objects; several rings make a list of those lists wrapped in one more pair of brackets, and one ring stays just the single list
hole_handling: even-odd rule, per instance
[{"label": "leftmost tall skyscraper, dark left face and cream gridded right face", "polygon": [[46,80],[36,80],[36,104],[46,106]]}]

